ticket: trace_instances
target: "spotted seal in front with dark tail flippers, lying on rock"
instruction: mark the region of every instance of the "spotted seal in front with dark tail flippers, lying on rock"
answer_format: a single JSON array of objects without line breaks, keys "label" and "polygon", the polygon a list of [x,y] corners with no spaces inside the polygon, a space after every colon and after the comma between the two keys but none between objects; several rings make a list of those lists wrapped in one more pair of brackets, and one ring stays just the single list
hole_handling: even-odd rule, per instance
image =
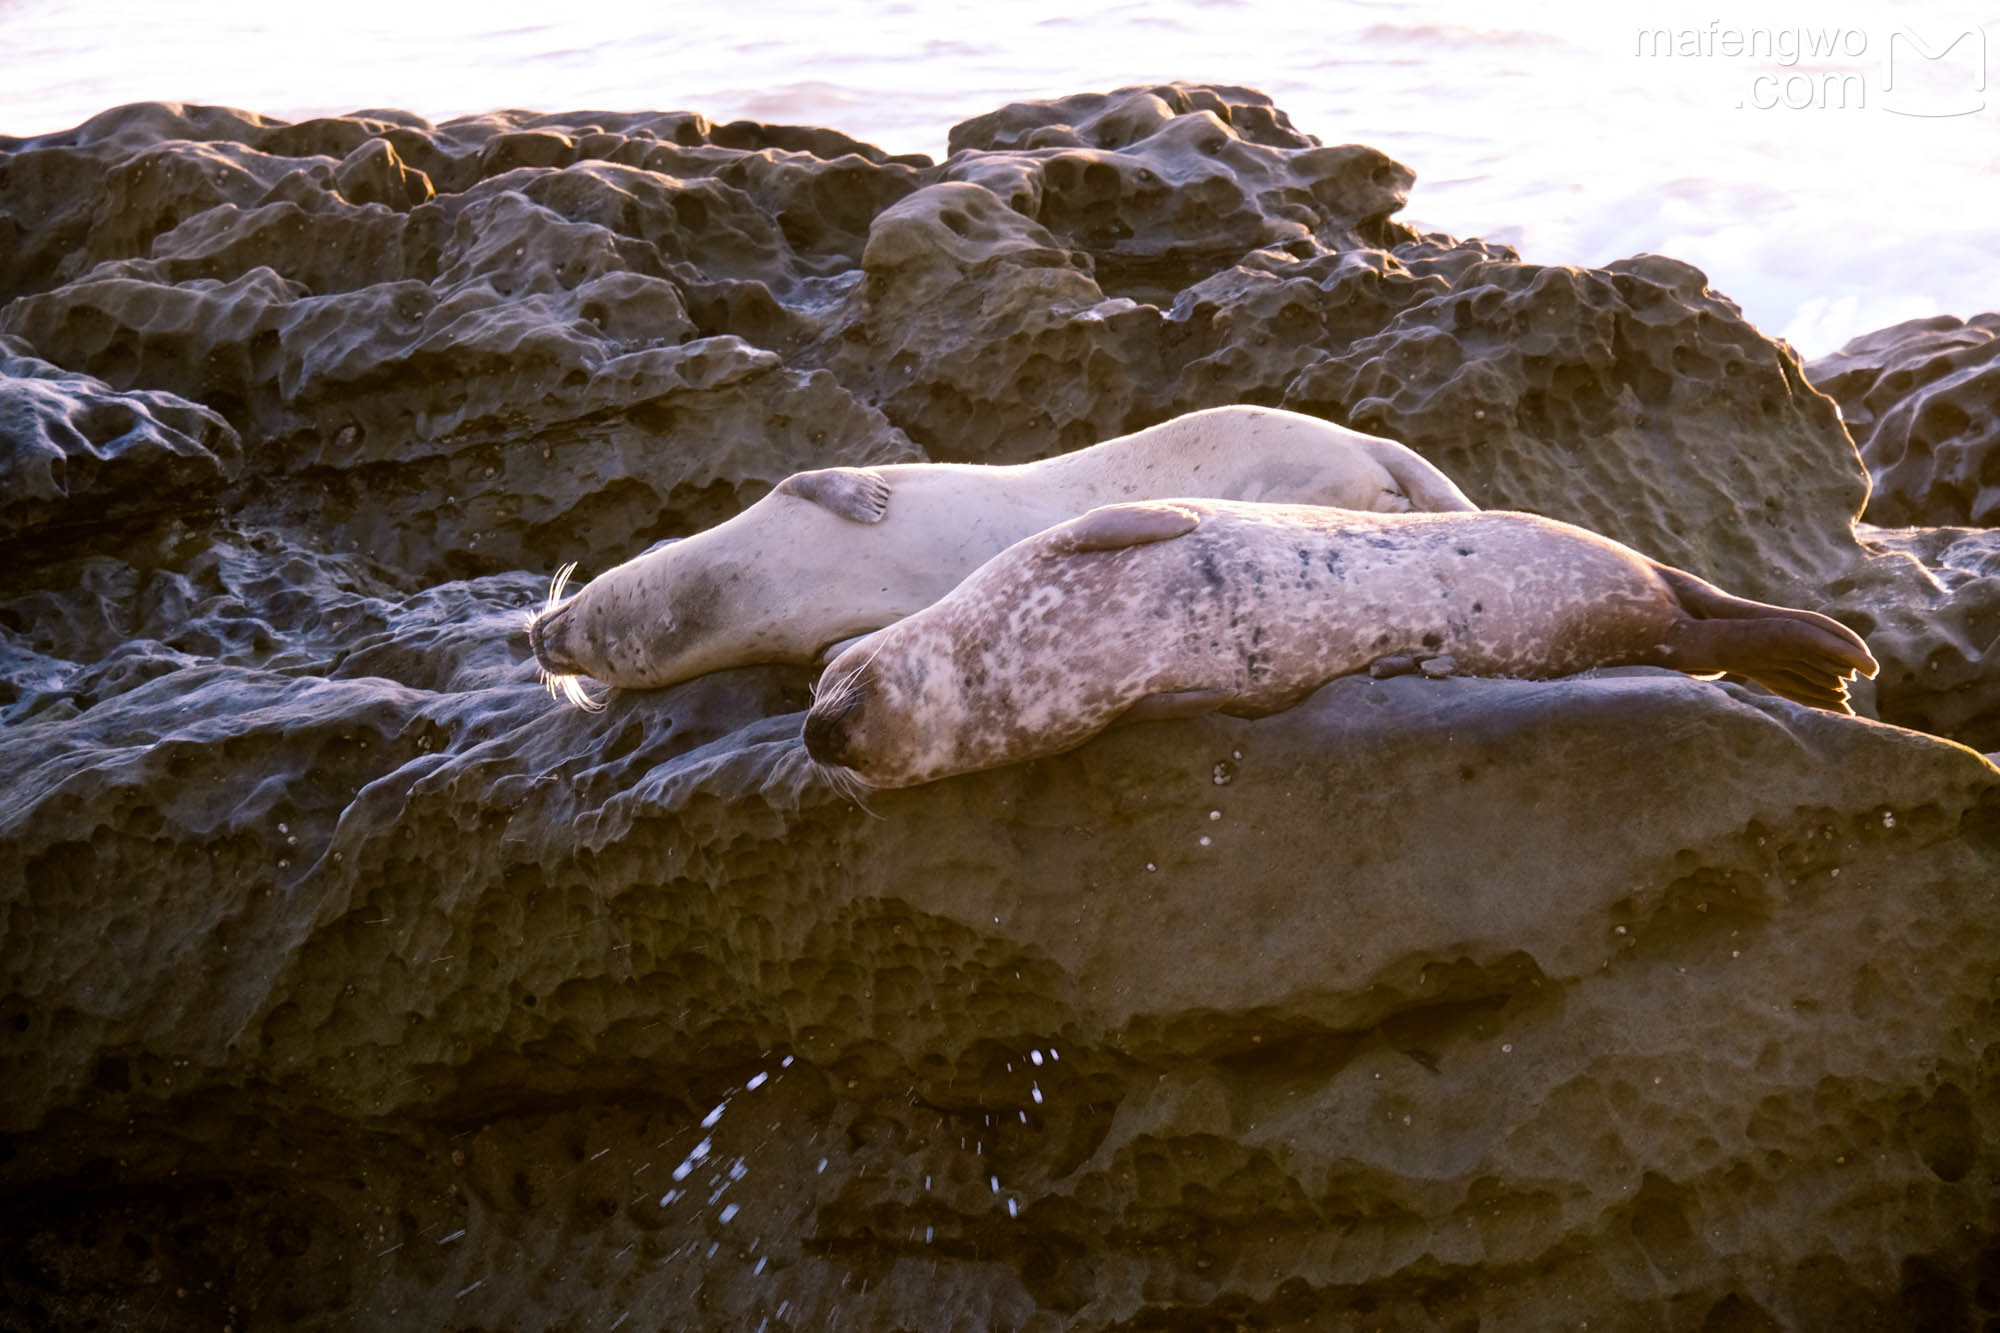
[{"label": "spotted seal in front with dark tail flippers, lying on rock", "polygon": [[1836,620],[1552,518],[1168,500],[1018,542],[854,644],[822,675],[804,741],[836,783],[910,787],[1056,755],[1120,719],[1274,713],[1380,664],[1732,671],[1838,711],[1846,677],[1876,673]]}]

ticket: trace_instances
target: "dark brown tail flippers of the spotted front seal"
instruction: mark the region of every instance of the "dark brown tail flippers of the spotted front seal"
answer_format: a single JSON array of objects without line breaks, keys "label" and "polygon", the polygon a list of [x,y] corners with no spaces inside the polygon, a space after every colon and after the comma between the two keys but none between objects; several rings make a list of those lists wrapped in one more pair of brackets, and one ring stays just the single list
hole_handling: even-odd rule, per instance
[{"label": "dark brown tail flippers of the spotted front seal", "polygon": [[1814,709],[1852,713],[1848,677],[1878,666],[1862,636],[1814,610],[1732,596],[1686,570],[1656,566],[1690,618],[1666,636],[1676,671],[1730,671]]}]

